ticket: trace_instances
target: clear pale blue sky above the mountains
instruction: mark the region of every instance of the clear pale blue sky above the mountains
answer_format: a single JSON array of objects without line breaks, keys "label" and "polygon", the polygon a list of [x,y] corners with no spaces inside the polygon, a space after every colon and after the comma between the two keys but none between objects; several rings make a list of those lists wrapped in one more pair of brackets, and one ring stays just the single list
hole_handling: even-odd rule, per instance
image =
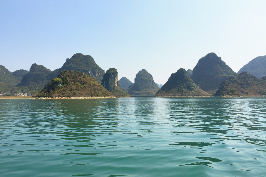
[{"label": "clear pale blue sky above the mountains", "polygon": [[0,1],[0,65],[52,71],[75,53],[166,83],[215,52],[237,72],[266,55],[266,1]]}]

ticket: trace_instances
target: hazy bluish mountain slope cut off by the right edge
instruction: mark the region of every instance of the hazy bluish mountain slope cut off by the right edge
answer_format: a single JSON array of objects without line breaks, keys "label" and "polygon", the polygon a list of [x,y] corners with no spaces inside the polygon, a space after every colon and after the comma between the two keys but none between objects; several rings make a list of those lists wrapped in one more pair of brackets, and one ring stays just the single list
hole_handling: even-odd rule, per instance
[{"label": "hazy bluish mountain slope cut off by the right edge", "polygon": [[254,58],[244,65],[237,73],[239,74],[243,71],[246,71],[257,78],[266,76],[266,55]]}]

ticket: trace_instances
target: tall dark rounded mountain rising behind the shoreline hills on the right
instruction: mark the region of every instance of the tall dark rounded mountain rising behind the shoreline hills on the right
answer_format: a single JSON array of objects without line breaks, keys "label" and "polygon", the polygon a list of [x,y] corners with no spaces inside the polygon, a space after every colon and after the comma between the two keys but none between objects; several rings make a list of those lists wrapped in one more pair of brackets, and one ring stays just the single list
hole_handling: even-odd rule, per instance
[{"label": "tall dark rounded mountain rising behind the shoreline hills on the right", "polygon": [[237,74],[215,53],[202,57],[193,69],[191,79],[206,92],[216,91],[220,83]]}]

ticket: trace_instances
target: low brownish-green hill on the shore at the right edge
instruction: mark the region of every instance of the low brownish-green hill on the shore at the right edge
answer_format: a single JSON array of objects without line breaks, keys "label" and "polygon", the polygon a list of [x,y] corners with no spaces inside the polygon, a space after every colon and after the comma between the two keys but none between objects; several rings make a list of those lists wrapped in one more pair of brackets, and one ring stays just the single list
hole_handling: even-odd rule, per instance
[{"label": "low brownish-green hill on the shore at the right edge", "polygon": [[266,77],[258,79],[247,72],[230,77],[220,84],[215,96],[223,95],[265,95]]}]

